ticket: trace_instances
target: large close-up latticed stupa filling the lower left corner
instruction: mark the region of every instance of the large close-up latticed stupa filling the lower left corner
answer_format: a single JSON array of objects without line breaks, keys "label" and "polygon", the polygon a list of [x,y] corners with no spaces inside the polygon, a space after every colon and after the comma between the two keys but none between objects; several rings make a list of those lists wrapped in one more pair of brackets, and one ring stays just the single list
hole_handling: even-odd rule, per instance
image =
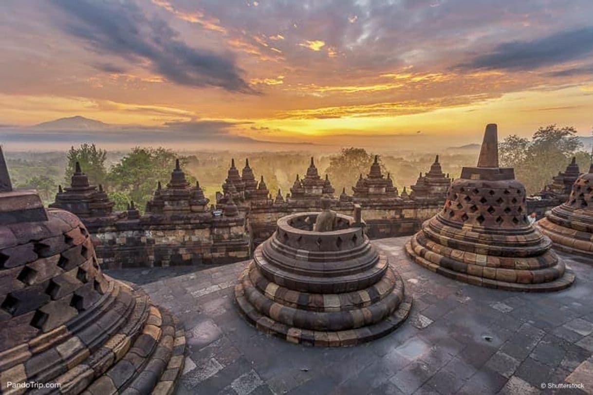
[{"label": "large close-up latticed stupa filling the lower left corner", "polygon": [[8,381],[61,385],[34,393],[173,392],[185,348],[177,320],[101,272],[76,215],[12,190],[1,151],[0,303],[2,393],[24,393]]}]

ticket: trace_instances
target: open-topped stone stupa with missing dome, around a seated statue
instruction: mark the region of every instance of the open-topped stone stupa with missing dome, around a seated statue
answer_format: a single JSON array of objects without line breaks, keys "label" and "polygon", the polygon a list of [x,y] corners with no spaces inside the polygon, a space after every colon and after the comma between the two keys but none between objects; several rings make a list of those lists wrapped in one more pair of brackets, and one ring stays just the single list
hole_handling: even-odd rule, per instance
[{"label": "open-topped stone stupa with missing dome, around a seated statue", "polygon": [[350,346],[387,335],[412,305],[403,281],[362,222],[336,214],[334,230],[314,232],[319,214],[278,220],[235,286],[241,313],[263,332],[305,345]]}]

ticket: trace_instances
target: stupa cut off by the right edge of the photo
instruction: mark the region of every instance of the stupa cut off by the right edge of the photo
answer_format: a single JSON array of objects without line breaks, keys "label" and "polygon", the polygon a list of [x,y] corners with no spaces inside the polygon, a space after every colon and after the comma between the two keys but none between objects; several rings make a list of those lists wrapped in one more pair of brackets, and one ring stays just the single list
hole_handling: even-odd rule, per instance
[{"label": "stupa cut off by the right edge of the photo", "polygon": [[551,209],[537,226],[557,249],[593,257],[593,164],[576,179],[568,200]]}]

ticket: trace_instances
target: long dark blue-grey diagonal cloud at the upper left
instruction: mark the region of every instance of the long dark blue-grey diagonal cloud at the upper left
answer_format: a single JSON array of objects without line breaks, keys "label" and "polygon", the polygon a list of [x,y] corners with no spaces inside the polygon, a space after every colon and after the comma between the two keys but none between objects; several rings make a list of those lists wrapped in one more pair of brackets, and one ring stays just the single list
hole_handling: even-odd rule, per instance
[{"label": "long dark blue-grey diagonal cloud at the upper left", "polygon": [[195,49],[157,16],[147,18],[134,2],[53,0],[66,12],[63,29],[95,52],[144,63],[180,85],[255,93],[230,54]]}]

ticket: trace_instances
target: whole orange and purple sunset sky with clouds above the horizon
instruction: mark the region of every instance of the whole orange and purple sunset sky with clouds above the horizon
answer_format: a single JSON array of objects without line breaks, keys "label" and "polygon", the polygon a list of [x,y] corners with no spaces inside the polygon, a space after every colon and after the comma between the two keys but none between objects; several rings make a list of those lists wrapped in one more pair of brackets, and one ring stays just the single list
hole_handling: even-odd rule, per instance
[{"label": "whole orange and purple sunset sky with clouds above the horizon", "polygon": [[[479,142],[487,123],[588,136],[591,15],[591,0],[4,0],[0,139],[396,148]],[[108,126],[30,128],[76,115]]]}]

